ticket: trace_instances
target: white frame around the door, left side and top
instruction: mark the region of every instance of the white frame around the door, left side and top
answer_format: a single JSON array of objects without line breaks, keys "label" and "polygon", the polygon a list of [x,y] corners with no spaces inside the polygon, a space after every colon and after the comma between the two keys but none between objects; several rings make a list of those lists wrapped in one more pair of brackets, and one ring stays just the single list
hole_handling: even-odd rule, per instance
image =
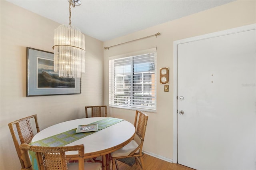
[{"label": "white frame around the door, left side and top", "polygon": [[178,163],[178,45],[182,43],[194,42],[219,36],[226,36],[229,34],[235,34],[238,32],[250,31],[255,29],[256,24],[251,24],[173,42],[173,163]]}]

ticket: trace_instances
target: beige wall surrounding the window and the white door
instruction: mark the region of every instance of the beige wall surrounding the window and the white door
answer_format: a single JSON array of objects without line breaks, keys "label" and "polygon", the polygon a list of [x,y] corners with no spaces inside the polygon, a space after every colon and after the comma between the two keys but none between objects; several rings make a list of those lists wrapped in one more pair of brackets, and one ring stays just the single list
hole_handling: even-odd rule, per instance
[{"label": "beige wall surrounding the window and the white door", "polygon": [[[160,24],[130,35],[104,42],[104,47],[128,42],[160,32],[152,37],[104,50],[104,104],[108,104],[108,57],[157,47],[157,70],[170,67],[169,92],[157,83],[157,112],[148,113],[148,127],[144,142],[146,153],[172,161],[173,153],[173,42],[211,32],[218,32],[256,23],[256,1],[235,1],[178,20]],[[186,68],[184,68],[186,69]],[[134,120],[135,111],[110,108],[110,116]]]}]

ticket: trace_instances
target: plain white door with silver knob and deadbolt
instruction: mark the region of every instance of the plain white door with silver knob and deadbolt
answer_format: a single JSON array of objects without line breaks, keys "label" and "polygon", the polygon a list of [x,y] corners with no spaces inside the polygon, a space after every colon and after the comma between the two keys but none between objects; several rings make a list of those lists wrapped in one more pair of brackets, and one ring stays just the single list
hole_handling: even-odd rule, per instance
[{"label": "plain white door with silver knob and deadbolt", "polygon": [[177,67],[178,164],[255,170],[256,31],[178,44]]}]

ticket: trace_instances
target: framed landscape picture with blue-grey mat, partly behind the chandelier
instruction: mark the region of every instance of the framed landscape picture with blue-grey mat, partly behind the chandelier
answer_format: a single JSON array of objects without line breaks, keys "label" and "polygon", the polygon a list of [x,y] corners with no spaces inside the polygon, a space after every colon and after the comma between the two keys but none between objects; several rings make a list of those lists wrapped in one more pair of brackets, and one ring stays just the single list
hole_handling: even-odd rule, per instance
[{"label": "framed landscape picture with blue-grey mat, partly behind the chandelier", "polygon": [[53,53],[27,47],[27,97],[81,94],[81,79],[54,72]]}]

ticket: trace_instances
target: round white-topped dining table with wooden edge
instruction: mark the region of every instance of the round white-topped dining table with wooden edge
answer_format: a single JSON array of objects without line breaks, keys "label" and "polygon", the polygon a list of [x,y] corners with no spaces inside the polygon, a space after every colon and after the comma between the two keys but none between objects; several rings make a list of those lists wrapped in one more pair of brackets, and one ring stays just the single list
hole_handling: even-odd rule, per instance
[{"label": "round white-topped dining table with wooden edge", "polygon": [[[105,118],[106,117],[83,118],[58,123],[38,132],[32,138],[32,142],[77,128],[78,125],[88,125]],[[107,170],[110,169],[108,154],[128,144],[133,139],[134,135],[134,125],[123,120],[119,123],[111,125],[110,127],[104,128],[79,140],[66,144],[65,146],[84,144],[84,158],[86,159],[102,156],[103,169]],[[78,152],[66,152],[66,157],[68,160],[78,160]]]}]

